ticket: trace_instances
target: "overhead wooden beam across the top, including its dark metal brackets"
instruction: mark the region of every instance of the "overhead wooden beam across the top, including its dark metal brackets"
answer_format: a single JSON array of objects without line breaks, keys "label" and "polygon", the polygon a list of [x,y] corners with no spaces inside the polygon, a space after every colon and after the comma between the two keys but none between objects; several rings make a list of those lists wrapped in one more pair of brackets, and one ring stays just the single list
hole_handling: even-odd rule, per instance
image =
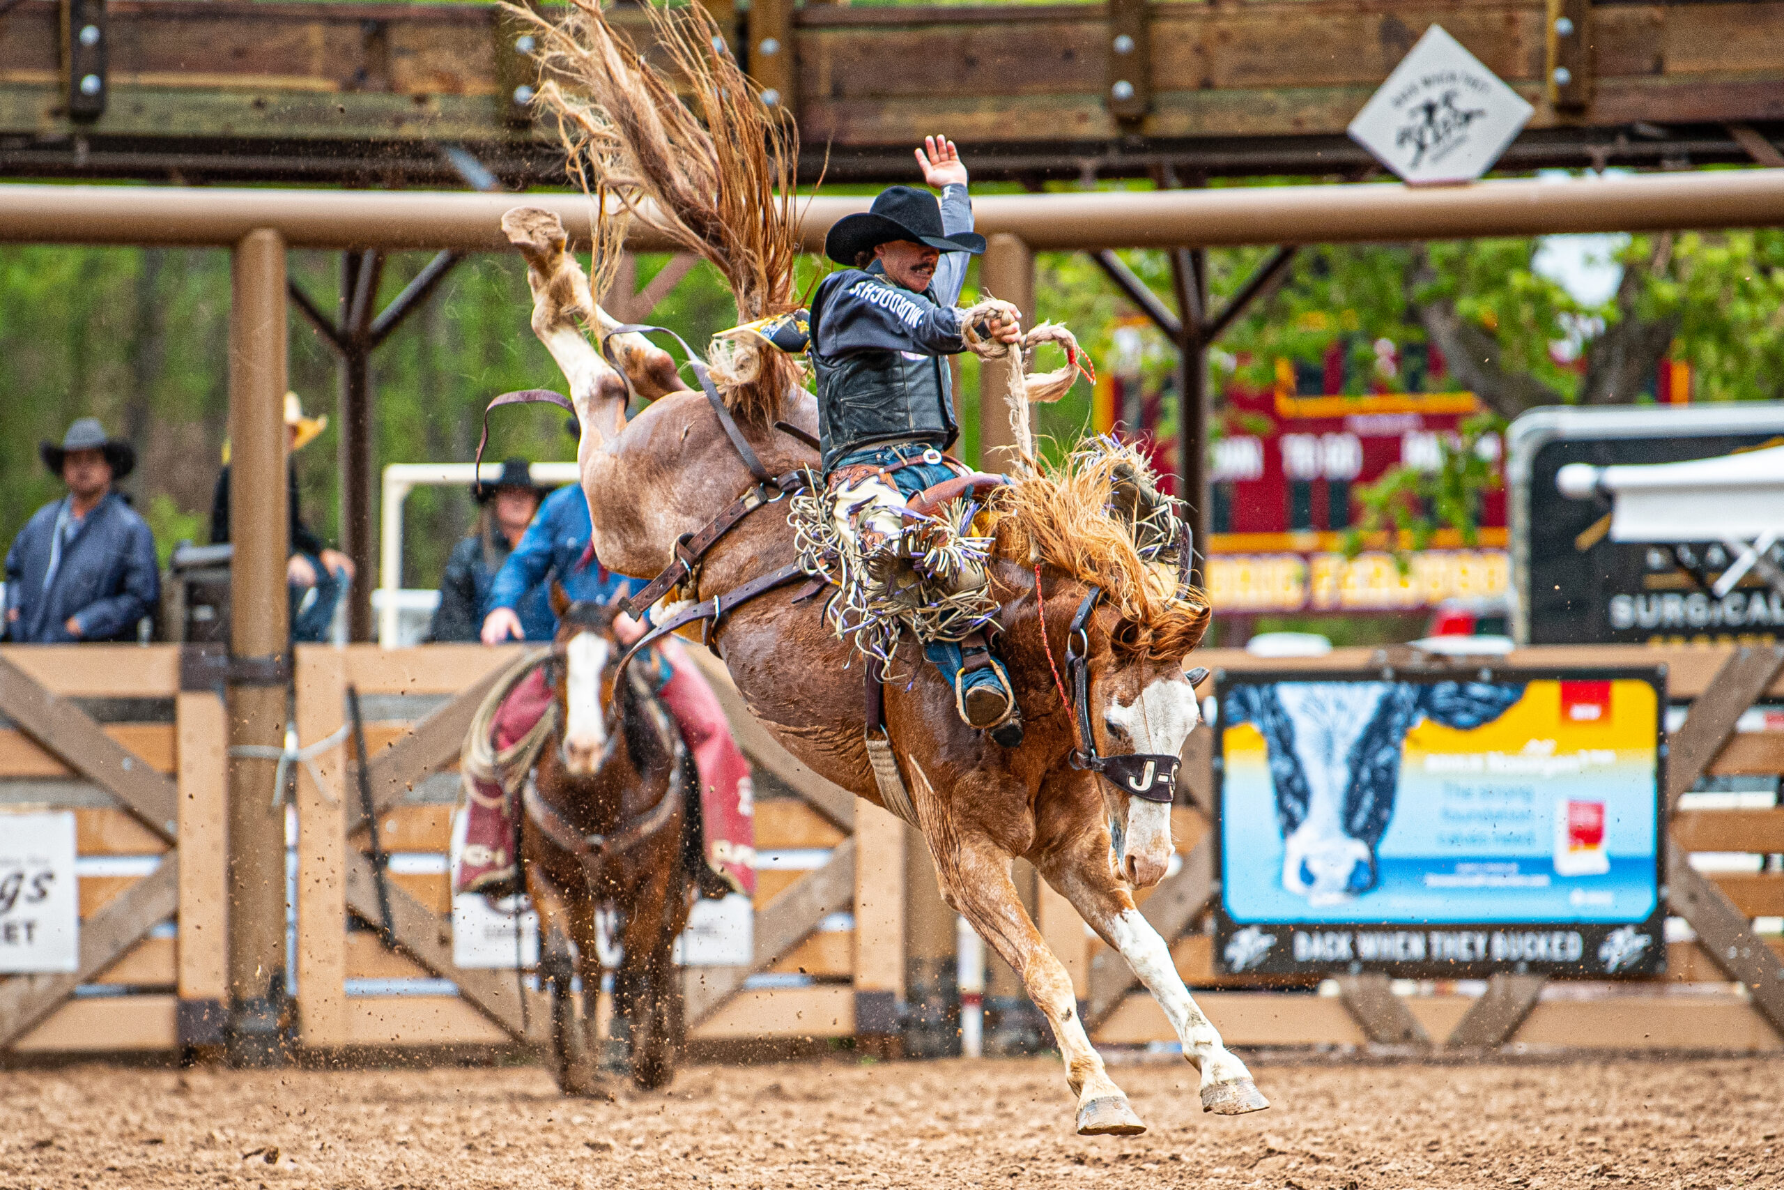
[{"label": "overhead wooden beam across the top, including its dark metal brackets", "polygon": [[[498,5],[114,5],[100,41],[77,43],[105,61],[73,91],[59,0],[20,0],[5,20],[0,175],[394,173],[414,186],[453,177],[435,146],[455,143],[476,145],[505,180],[562,184],[553,130],[523,102],[537,86],[533,46]],[[608,20],[649,52],[642,11]],[[1436,21],[1536,103],[1509,168],[1738,161],[1723,125],[1784,118],[1784,4],[1772,0],[758,0],[735,48],[797,112],[806,178],[828,159],[831,178],[908,180],[908,146],[938,128],[969,146],[978,177],[994,161],[1054,177],[1085,162],[1136,177],[1172,159],[1227,175],[1331,173],[1363,161],[1345,125]],[[87,75],[103,103],[78,91]],[[1698,132],[1675,139],[1679,125]]]}]

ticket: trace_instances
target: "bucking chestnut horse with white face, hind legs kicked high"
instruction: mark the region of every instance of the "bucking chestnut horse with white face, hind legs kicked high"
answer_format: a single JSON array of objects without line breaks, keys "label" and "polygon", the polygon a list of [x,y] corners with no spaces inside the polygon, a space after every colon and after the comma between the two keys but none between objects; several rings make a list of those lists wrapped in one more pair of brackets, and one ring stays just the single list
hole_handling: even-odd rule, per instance
[{"label": "bucking chestnut horse with white face, hind legs kicked high", "polygon": [[[587,153],[614,187],[632,187],[632,200],[651,200],[648,218],[726,275],[742,319],[785,312],[796,305],[797,252],[789,182],[797,152],[789,152],[789,125],[760,102],[701,5],[648,7],[658,46],[653,59],[673,62],[692,84],[685,103],[676,93],[681,80],[646,64],[607,27],[594,0],[573,0],[562,25],[535,25],[544,64],[578,89],[569,98],[548,80],[541,98],[562,127],[574,128],[567,136],[573,161],[580,166],[580,153]],[[817,430],[817,403],[799,385],[792,357],[762,350],[714,360],[724,366],[715,368],[724,373],[717,384],[724,410],[758,457],[749,467],[708,398],[680,384],[665,351],[639,334],[614,334],[614,319],[566,252],[557,216],[523,207],[503,218],[503,228],[528,262],[533,332],[567,376],[582,421],[582,485],[605,566],[655,576],[676,560],[683,535],[703,530],[742,492],[760,491],[762,471],[815,467],[815,451],[776,428],[776,421],[789,421],[808,435]],[[599,332],[617,368],[589,343],[583,325]],[[653,403],[628,421],[632,393]],[[1238,1115],[1265,1108],[1245,1065],[1197,1008],[1170,949],[1131,897],[1131,888],[1165,876],[1172,853],[1169,794],[1165,803],[1129,796],[1072,764],[1085,753],[1149,755],[1176,771],[1197,723],[1183,664],[1206,628],[1208,605],[1149,585],[1133,542],[1111,533],[1106,475],[1101,489],[1029,476],[1008,491],[1013,496],[1001,505],[992,582],[1026,740],[1006,751],[962,724],[953,692],[908,637],[896,655],[901,680],[885,687],[896,764],[942,892],[1020,974],[1053,1026],[1078,1097],[1079,1133],[1129,1135],[1145,1126],[1090,1045],[1070,976],[1010,881],[1012,856],[1028,858],[1152,992],[1183,1040],[1185,1058],[1201,1070],[1204,1110]],[[783,507],[747,514],[723,533],[674,598],[735,592],[792,564],[794,532]],[[1103,598],[1090,598],[1095,591]],[[837,785],[885,805],[863,744],[860,658],[828,630],[821,599],[794,598],[794,587],[778,587],[735,608],[726,601],[710,640],[751,712],[789,751]],[[1049,651],[1067,657],[1069,646],[1083,658],[1085,682],[1061,698]],[[1088,739],[1079,740],[1078,730]],[[1119,842],[1111,842],[1111,826]]]}]

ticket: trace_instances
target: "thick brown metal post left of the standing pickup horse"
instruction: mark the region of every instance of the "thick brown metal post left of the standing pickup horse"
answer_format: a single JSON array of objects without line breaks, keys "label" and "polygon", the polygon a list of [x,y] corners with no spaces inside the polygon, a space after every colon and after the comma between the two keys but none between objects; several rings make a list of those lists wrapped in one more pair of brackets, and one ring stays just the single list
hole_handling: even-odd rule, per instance
[{"label": "thick brown metal post left of the standing pickup horse", "polygon": [[[235,244],[230,309],[230,746],[277,748],[285,733],[285,239]],[[282,1056],[285,994],[285,810],[271,760],[230,760],[228,1056]]]}]

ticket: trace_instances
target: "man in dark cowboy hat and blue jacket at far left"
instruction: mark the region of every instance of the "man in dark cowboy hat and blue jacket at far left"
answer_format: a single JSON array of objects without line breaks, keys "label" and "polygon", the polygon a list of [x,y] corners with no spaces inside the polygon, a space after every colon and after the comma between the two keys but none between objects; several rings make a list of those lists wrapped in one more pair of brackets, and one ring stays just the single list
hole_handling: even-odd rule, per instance
[{"label": "man in dark cowboy hat and blue jacket at far left", "polygon": [[43,464],[68,494],[25,523],[5,555],[5,639],[18,644],[134,640],[161,596],[155,537],[112,485],[136,451],[105,435],[98,417],[41,442]]}]

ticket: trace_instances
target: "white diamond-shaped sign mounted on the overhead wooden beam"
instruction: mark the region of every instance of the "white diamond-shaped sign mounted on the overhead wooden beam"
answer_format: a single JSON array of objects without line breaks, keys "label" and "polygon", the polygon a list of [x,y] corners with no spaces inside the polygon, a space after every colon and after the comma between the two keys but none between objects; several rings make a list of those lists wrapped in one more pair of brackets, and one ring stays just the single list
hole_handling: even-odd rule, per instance
[{"label": "white diamond-shaped sign mounted on the overhead wooden beam", "polygon": [[1406,182],[1474,182],[1493,168],[1534,111],[1433,25],[1349,132]]}]

